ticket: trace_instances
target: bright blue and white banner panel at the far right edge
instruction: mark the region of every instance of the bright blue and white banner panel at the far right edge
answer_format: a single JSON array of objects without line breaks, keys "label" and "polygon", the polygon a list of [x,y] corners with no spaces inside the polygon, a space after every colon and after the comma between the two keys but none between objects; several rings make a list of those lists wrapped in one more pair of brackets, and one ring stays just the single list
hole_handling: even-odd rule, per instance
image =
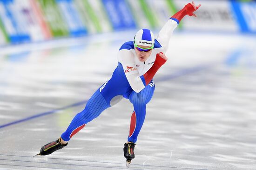
[{"label": "bright blue and white banner panel at the far right edge", "polygon": [[256,2],[231,1],[231,5],[241,31],[256,33]]}]

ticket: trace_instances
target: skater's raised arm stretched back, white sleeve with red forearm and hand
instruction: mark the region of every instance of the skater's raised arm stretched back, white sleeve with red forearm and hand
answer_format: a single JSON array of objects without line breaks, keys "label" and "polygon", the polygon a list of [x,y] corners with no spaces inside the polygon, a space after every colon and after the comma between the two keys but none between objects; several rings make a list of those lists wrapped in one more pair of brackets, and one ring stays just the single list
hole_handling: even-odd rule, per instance
[{"label": "skater's raised arm stretched back, white sleeve with red forearm and hand", "polygon": [[182,10],[178,11],[177,13],[175,13],[168,21],[167,23],[162,27],[162,29],[160,30],[158,37],[156,38],[157,41],[162,45],[162,47],[167,50],[168,49],[168,43],[169,40],[171,38],[171,35],[173,33],[173,31],[175,30],[175,28],[178,26],[178,24],[181,22],[181,20],[183,19],[183,17],[185,17],[186,15],[189,16],[194,16],[196,17],[196,15],[194,14],[194,12],[201,6],[195,5],[195,2],[192,1],[192,3],[189,3],[187,5],[184,6],[184,8],[182,8]]}]

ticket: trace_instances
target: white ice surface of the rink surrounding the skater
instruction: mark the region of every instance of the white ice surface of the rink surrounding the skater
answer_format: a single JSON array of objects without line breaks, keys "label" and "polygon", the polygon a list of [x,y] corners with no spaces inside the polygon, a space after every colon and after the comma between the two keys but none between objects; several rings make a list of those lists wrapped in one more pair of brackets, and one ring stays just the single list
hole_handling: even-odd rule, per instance
[{"label": "white ice surface of the rink surrounding the skater", "polygon": [[[128,100],[56,140],[136,31],[0,48],[0,170],[122,170]],[[256,170],[256,36],[175,31],[129,170]]]}]

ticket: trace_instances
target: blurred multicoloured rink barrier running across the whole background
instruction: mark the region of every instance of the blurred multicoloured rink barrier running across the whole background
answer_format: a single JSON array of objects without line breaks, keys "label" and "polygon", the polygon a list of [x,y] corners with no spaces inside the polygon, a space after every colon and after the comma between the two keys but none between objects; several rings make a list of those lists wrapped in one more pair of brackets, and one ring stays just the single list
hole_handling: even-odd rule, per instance
[{"label": "blurred multicoloured rink barrier running across the whole background", "polygon": [[[159,30],[187,0],[0,0],[0,45],[110,31]],[[256,33],[256,2],[196,0],[179,28]],[[214,6],[214,7],[213,7]]]}]

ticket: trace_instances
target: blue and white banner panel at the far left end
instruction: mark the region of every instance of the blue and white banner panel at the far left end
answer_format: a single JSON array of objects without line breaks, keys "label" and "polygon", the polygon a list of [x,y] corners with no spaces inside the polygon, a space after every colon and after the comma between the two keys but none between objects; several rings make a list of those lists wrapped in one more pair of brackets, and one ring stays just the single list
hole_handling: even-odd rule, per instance
[{"label": "blue and white banner panel at the far left end", "polygon": [[0,17],[11,43],[30,41],[26,22],[22,18],[24,13],[26,11],[20,10],[14,0],[0,0]]}]

